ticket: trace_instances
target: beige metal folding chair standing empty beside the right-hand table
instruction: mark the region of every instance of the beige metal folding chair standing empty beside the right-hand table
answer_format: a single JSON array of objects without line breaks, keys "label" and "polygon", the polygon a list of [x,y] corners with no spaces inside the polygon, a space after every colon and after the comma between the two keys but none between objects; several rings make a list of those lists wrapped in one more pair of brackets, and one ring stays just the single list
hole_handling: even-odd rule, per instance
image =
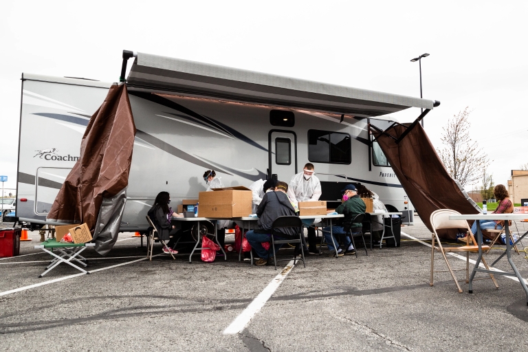
[{"label": "beige metal folding chair standing empty beside the right-hand table", "polygon": [[[450,215],[459,215],[460,213],[455,210],[450,209],[439,209],[432,212],[430,216],[430,223],[432,226],[432,243],[431,243],[431,277],[430,277],[430,286],[433,286],[433,273],[434,272],[450,272],[451,276],[453,277],[454,283],[456,284],[456,287],[459,289],[459,293],[462,293],[462,289],[460,288],[459,281],[456,279],[456,276],[454,276],[454,272],[465,270],[465,282],[470,282],[470,252],[476,253],[478,252],[478,245],[476,245],[475,238],[471,232],[470,226],[467,225],[467,221],[465,220],[450,220]],[[467,236],[466,236],[466,244],[459,246],[459,247],[444,247],[442,243],[440,242],[437,230],[443,230],[443,229],[458,229],[458,230],[466,230]],[[473,245],[469,244],[470,238],[473,241]],[[438,242],[438,248],[434,246],[434,240]],[[488,250],[488,245],[483,245],[482,250]],[[434,271],[434,251],[437,250],[442,253],[443,260],[445,261],[445,264],[448,265],[448,270],[437,270]],[[458,269],[458,270],[452,270],[451,266],[449,265],[448,258],[445,256],[445,253],[447,252],[466,252],[466,261],[465,261],[465,269]],[[487,266],[487,263],[485,259],[482,259],[482,263],[486,267],[487,270],[489,270],[489,267]],[[495,284],[495,287],[498,288],[497,282],[495,281],[495,278],[493,274],[489,274],[490,278],[492,279],[493,283]],[[482,280],[479,279],[479,280]]]}]

